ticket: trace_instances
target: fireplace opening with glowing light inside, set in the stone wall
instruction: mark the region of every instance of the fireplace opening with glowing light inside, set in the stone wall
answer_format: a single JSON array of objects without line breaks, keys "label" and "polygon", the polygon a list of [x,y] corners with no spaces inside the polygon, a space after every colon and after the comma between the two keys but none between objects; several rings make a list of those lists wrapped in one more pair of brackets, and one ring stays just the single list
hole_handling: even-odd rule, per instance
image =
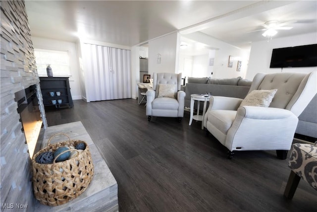
[{"label": "fireplace opening with glowing light inside, set in the stone wall", "polygon": [[43,127],[36,85],[31,85],[24,90],[16,92],[14,95],[18,104],[17,111],[20,114],[20,122],[22,123],[21,130],[24,133],[29,154],[32,158],[41,128]]}]

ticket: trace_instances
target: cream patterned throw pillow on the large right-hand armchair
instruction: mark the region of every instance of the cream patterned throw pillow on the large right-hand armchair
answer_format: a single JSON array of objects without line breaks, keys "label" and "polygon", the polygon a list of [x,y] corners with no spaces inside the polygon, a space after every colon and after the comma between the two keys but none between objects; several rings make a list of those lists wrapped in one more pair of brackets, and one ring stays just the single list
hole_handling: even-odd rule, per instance
[{"label": "cream patterned throw pillow on the large right-hand armchair", "polygon": [[268,107],[277,89],[273,90],[253,90],[241,102],[241,106]]}]

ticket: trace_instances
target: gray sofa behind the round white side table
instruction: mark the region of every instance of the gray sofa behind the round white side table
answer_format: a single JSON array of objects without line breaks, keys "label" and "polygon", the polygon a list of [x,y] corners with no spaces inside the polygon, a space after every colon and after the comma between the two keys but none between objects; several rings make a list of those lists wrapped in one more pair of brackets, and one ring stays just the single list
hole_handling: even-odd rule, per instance
[{"label": "gray sofa behind the round white side table", "polygon": [[[252,81],[247,79],[228,78],[228,79],[213,79],[209,77],[194,78],[188,77],[188,82],[182,86],[185,91],[185,107],[190,107],[191,94],[211,93],[213,96],[227,96],[244,99],[250,90]],[[203,103],[201,107],[203,108]]]}]

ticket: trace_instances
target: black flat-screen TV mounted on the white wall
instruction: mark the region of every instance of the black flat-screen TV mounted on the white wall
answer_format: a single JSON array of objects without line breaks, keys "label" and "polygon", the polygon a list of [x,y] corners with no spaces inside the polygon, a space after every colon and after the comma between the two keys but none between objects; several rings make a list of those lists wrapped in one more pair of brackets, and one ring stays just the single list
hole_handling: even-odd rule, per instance
[{"label": "black flat-screen TV mounted on the white wall", "polygon": [[316,67],[317,44],[273,49],[269,68]]}]

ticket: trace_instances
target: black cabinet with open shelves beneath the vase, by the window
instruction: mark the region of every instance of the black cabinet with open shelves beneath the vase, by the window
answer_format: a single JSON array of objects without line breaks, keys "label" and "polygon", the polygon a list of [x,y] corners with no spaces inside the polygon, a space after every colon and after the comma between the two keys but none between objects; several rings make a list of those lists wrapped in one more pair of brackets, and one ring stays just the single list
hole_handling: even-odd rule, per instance
[{"label": "black cabinet with open shelves beneath the vase, by the window", "polygon": [[44,106],[55,106],[56,108],[73,107],[68,78],[40,77]]}]

